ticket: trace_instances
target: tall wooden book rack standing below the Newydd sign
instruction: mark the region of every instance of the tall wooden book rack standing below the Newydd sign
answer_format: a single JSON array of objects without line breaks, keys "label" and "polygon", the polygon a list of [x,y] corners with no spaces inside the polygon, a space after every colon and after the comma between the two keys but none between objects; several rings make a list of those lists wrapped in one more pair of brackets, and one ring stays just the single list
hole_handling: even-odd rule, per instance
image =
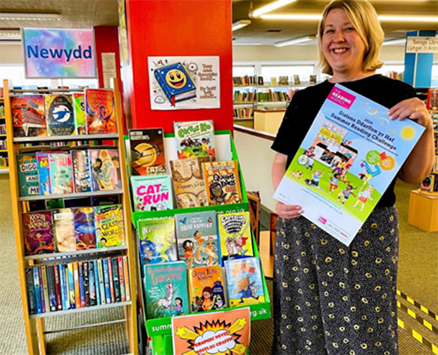
[{"label": "tall wooden book rack standing below the Newydd sign", "polygon": [[[73,315],[78,312],[112,307],[123,307],[124,318],[105,322],[105,324],[125,323],[129,352],[131,354],[138,354],[136,276],[133,257],[135,254],[133,253],[133,240],[131,237],[125,146],[120,144],[123,143],[123,121],[121,118],[118,82],[114,80],[114,90],[111,90],[114,94],[115,127],[112,128],[110,133],[90,135],[14,137],[14,107],[12,107],[12,102],[19,101],[20,97],[23,98],[23,101],[27,101],[26,95],[69,94],[70,92],[80,92],[81,90],[10,90],[8,80],[3,81],[3,89],[8,155],[9,157],[14,157],[14,159],[9,161],[10,187],[18,275],[23,303],[23,319],[29,354],[46,354],[46,335],[49,333],[66,330],[74,331],[80,328],[103,325],[103,323],[81,324],[77,328],[46,331],[44,319],[47,317],[63,314]],[[110,90],[106,91],[109,92]],[[29,107],[25,108],[28,110],[32,109],[31,106],[31,104],[28,106],[23,104],[23,107]],[[73,113],[70,111],[70,114]],[[32,126],[30,125],[30,127]],[[56,186],[53,184],[49,192],[39,194],[38,179],[41,180],[41,174],[39,174],[40,176],[38,174],[34,176],[27,175],[24,176],[25,180],[22,179],[22,173],[27,167],[23,168],[19,156],[24,153],[27,156],[31,156],[32,153],[35,154],[36,152],[49,153],[49,155],[61,152],[70,156],[70,153],[74,150],[88,154],[87,148],[92,146],[92,148],[95,148],[94,150],[97,150],[96,144],[105,144],[103,146],[105,152],[111,150],[118,156],[120,174],[118,176],[117,187],[112,189],[102,188],[102,191],[89,189],[88,192],[83,192],[78,187],[74,187],[67,192],[57,192],[55,194],[56,190],[54,189],[59,188],[59,186],[58,184]],[[99,151],[101,150],[104,149],[99,149]],[[27,160],[25,162],[29,163],[30,161]],[[36,163],[34,164],[36,165]],[[90,174],[92,174],[91,171]],[[69,174],[73,174],[71,166]],[[70,177],[70,181],[73,181],[72,179]],[[27,187],[27,183],[35,181],[37,184],[35,191],[38,192],[27,196],[29,194],[23,193],[23,186]],[[64,184],[60,183],[59,185]],[[108,200],[114,201],[112,206],[102,207],[103,201]],[[109,202],[103,204],[110,205]],[[106,215],[103,217],[104,213],[116,213],[118,228],[124,231],[124,233],[121,233],[121,238],[125,240],[119,245],[107,244],[105,246],[103,245],[104,238],[101,237],[102,234],[99,234],[99,239],[93,239],[93,245],[91,245],[91,242],[86,246],[83,246],[83,244],[79,245],[79,239],[73,239],[73,249],[71,248],[72,244],[70,244],[70,248],[67,248],[63,244],[65,242],[63,237],[66,234],[66,230],[63,228],[66,228],[66,225],[60,226],[60,231],[57,231],[57,223],[62,219],[61,215],[65,210],[68,210],[71,215],[76,215],[76,211],[79,210],[80,213],[86,210],[88,211],[87,213],[94,215],[91,220],[87,220],[93,228],[96,226],[96,235],[103,233],[104,227],[100,218],[106,217]],[[30,245],[36,239],[34,239],[35,237],[29,237],[29,228],[31,226],[27,222],[29,218],[32,218],[31,216],[34,212],[39,215],[47,215],[50,225],[53,222],[53,231],[49,232],[49,234],[53,233],[53,238],[48,248],[41,248],[42,244],[39,246],[38,244]],[[64,215],[66,214],[68,213],[64,213]],[[87,216],[86,213],[85,215]],[[99,227],[98,220],[101,223]],[[74,228],[76,236],[77,226]],[[101,228],[99,233],[97,231],[98,228]],[[41,237],[41,234],[37,235],[38,237]],[[96,239],[99,240],[99,246]],[[108,237],[108,240],[110,240],[110,237]],[[42,241],[42,243],[44,242]],[[84,241],[84,243],[88,242]],[[44,246],[47,246],[47,244],[44,244]],[[29,252],[29,250],[31,251]],[[74,276],[71,276],[72,274]],[[77,276],[78,274],[79,276]],[[105,282],[101,282],[101,280],[105,280]],[[110,285],[112,286],[110,293],[105,293],[107,291],[105,287]],[[53,287],[55,290],[53,290]],[[103,287],[103,289],[99,289],[99,287]],[[83,298],[84,295],[85,298]],[[109,298],[108,295],[110,296]],[[96,352],[99,352],[99,350],[96,349]]]}]

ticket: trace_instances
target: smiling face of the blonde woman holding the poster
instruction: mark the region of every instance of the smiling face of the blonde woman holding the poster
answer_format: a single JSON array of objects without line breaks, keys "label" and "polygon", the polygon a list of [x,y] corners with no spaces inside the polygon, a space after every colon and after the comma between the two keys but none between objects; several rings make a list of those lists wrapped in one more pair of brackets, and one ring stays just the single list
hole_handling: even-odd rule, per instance
[{"label": "smiling face of the blonde woman holding the poster", "polygon": [[322,53],[333,70],[334,81],[352,81],[363,74],[365,43],[344,10],[327,14],[322,35]]}]

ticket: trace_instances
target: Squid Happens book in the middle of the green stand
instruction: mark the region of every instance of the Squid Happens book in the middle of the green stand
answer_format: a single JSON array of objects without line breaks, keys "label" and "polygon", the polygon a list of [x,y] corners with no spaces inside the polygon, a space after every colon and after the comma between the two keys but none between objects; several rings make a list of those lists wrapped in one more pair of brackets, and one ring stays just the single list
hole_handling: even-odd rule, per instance
[{"label": "Squid Happens book in the middle of the green stand", "polygon": [[175,215],[179,260],[187,268],[219,263],[216,212]]}]

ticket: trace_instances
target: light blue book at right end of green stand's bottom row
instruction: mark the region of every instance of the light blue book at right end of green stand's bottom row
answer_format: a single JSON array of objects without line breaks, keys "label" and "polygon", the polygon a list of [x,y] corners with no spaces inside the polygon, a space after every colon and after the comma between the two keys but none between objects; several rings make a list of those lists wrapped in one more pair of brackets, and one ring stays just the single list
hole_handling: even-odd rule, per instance
[{"label": "light blue book at right end of green stand's bottom row", "polygon": [[226,260],[225,272],[230,307],[265,302],[259,258]]}]

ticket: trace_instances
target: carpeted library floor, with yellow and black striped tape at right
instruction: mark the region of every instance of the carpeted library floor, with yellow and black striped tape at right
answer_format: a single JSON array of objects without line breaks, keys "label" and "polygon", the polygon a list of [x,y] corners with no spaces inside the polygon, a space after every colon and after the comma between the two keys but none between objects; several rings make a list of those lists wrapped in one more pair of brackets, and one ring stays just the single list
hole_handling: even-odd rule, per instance
[{"label": "carpeted library floor, with yellow and black striped tape at right", "polygon": [[[400,355],[438,354],[438,233],[425,233],[407,224],[409,191],[415,188],[415,185],[407,185],[400,181],[396,185],[397,207],[400,213]],[[9,179],[6,174],[0,174],[0,226],[0,354],[27,354]],[[270,280],[268,288],[272,290]],[[46,328],[72,328],[80,324],[121,318],[121,309],[111,308],[105,311],[50,317],[46,321]],[[250,354],[269,354],[271,339],[272,319],[255,321],[251,330]],[[114,355],[129,352],[123,324],[55,332],[48,334],[47,340],[47,354]]]}]

